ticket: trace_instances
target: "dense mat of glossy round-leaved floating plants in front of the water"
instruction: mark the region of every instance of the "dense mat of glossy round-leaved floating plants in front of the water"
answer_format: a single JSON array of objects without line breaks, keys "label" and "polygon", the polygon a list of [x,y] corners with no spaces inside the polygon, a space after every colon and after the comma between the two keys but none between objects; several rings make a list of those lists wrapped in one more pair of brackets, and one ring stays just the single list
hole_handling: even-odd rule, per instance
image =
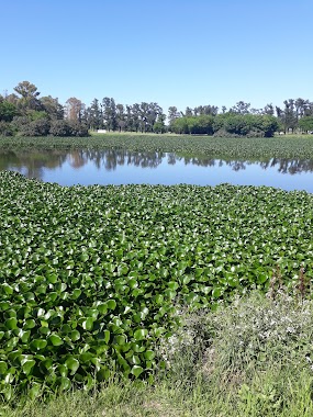
[{"label": "dense mat of glossy round-leaved floating plants in front of the water", "polygon": [[[148,377],[178,308],[312,279],[313,198],[232,187],[72,187],[0,176],[1,391]],[[301,272],[302,271],[302,272]],[[165,365],[165,363],[164,363]]]}]

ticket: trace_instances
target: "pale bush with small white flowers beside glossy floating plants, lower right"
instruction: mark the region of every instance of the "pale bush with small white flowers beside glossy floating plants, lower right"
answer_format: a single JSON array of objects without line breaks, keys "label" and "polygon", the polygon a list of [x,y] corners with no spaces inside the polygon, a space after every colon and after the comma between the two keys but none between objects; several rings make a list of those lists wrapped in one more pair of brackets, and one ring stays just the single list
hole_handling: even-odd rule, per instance
[{"label": "pale bush with small white flowers beside glossy floating plants, lower right", "polygon": [[[160,349],[168,367],[187,359],[193,370],[245,372],[271,364],[313,362],[313,301],[258,292],[221,304],[216,312],[181,313],[185,326]],[[312,368],[313,369],[313,368]]]}]

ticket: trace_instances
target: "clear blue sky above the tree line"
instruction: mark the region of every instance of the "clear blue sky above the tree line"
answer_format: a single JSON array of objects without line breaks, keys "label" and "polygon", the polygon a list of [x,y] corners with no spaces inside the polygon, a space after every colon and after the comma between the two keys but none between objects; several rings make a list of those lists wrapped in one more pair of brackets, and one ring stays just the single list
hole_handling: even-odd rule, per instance
[{"label": "clear blue sky above the tree line", "polygon": [[0,0],[0,93],[23,80],[168,106],[313,101],[313,0]]}]

